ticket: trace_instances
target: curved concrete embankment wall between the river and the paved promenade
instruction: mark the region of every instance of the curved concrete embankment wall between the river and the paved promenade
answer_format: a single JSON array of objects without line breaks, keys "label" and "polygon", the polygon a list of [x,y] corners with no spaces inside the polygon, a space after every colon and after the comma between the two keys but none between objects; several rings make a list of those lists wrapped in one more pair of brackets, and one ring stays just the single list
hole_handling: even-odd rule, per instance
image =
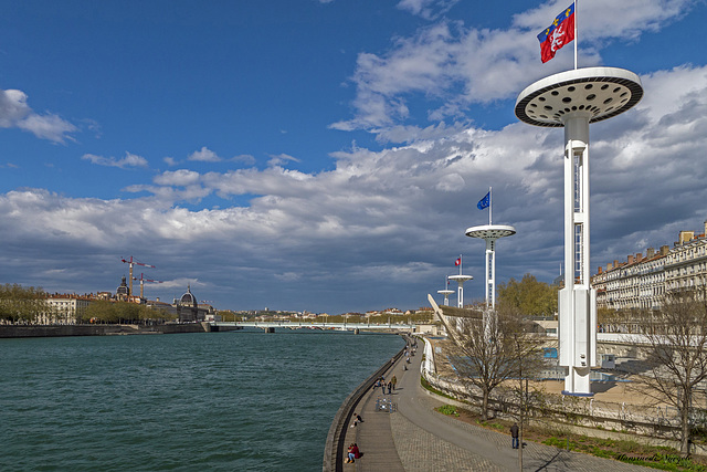
[{"label": "curved concrete embankment wall between the river and the paved promenade", "polygon": [[[408,337],[404,337],[408,340]],[[361,398],[370,391],[373,384],[380,376],[384,375],[392,366],[400,359],[404,353],[404,346],[395,354],[391,360],[383,364],[378,370],[376,370],[369,378],[363,380],[356,389],[344,400],[338,411],[334,416],[331,427],[329,427],[329,434],[327,436],[327,442],[324,448],[324,461],[323,471],[341,471],[344,464],[344,454],[346,445],[346,432],[351,416],[357,408]]]}]

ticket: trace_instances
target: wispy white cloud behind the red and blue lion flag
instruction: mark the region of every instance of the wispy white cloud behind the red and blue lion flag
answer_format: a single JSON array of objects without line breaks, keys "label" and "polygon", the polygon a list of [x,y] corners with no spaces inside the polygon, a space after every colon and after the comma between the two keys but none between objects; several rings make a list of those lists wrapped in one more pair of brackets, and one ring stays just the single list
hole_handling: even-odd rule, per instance
[{"label": "wispy white cloud behind the red and blue lion flag", "polygon": [[[433,0],[403,0],[399,8],[423,14]],[[569,54],[548,67],[539,61],[537,33],[564,8],[556,1],[516,14],[507,29],[466,28],[461,22],[439,21],[410,38],[399,38],[382,54],[360,53],[351,82],[356,85],[355,116],[330,125],[334,129],[368,129],[384,133],[408,117],[408,102],[424,97],[430,119],[460,119],[469,106],[515,98],[535,78],[571,66]],[[633,41],[687,14],[687,0],[645,2],[612,0],[580,4],[581,60],[585,66],[601,63],[599,49],[614,40]],[[611,9],[612,14],[605,12]]]}]

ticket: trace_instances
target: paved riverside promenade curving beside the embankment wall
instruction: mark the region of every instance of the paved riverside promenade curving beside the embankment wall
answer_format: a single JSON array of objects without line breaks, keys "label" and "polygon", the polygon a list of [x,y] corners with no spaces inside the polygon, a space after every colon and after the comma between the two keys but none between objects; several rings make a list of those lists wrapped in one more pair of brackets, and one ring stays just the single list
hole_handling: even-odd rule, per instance
[{"label": "paved riverside promenade curving beside the embankment wall", "polygon": [[[344,471],[517,471],[518,450],[511,449],[510,436],[472,426],[434,411],[444,399],[420,385],[421,350],[408,364],[404,357],[389,370],[398,387],[386,396],[395,406],[393,412],[379,411],[380,388],[366,394],[357,412],[363,422],[349,426],[346,444],[356,442],[362,457],[344,463]],[[648,471],[630,463],[569,452],[553,447],[526,442],[523,451],[525,471]]]}]

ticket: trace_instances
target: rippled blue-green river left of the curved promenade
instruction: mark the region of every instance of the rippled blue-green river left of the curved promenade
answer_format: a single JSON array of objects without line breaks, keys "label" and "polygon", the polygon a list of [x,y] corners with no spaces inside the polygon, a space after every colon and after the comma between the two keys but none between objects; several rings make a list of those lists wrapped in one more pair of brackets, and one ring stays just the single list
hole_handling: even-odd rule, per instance
[{"label": "rippled blue-green river left of the curved promenade", "polygon": [[0,339],[0,470],[315,471],[395,335]]}]

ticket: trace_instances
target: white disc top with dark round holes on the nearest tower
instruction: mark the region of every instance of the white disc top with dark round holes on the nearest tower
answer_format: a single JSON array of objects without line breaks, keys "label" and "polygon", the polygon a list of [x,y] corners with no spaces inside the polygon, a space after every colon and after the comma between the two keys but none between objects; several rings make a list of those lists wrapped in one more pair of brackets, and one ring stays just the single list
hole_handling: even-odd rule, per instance
[{"label": "white disc top with dark round holes on the nearest tower", "polygon": [[541,78],[520,92],[516,116],[535,126],[561,127],[568,117],[589,123],[616,116],[643,97],[636,74],[616,67],[587,67]]}]

